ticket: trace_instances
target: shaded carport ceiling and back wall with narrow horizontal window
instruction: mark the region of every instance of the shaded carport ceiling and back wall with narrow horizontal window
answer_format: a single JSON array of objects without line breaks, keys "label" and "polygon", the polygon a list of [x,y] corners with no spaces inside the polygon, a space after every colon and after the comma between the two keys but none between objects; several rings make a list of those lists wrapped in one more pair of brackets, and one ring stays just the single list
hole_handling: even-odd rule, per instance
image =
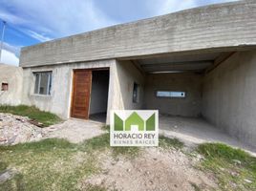
[{"label": "shaded carport ceiling and back wall with narrow horizontal window", "polygon": [[203,117],[203,77],[233,53],[173,53],[133,60],[145,76],[142,107],[163,115]]}]

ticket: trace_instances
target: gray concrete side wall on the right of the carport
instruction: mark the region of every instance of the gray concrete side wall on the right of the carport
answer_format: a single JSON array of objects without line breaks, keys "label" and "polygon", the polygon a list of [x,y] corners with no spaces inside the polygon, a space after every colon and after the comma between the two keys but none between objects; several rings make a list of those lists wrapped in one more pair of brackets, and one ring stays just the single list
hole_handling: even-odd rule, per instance
[{"label": "gray concrete side wall on the right of the carport", "polygon": [[203,79],[203,117],[256,145],[256,51],[235,53]]}]

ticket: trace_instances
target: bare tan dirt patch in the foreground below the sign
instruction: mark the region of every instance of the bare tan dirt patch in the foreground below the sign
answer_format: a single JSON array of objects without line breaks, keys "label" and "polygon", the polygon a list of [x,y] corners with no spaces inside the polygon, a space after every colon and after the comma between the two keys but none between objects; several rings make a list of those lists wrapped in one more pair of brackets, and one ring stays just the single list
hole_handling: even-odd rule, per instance
[{"label": "bare tan dirt patch in the foreground below the sign", "polygon": [[101,173],[86,178],[80,188],[102,186],[108,190],[215,190],[214,176],[198,170],[200,156],[188,157],[180,150],[146,148],[135,159],[101,157]]}]

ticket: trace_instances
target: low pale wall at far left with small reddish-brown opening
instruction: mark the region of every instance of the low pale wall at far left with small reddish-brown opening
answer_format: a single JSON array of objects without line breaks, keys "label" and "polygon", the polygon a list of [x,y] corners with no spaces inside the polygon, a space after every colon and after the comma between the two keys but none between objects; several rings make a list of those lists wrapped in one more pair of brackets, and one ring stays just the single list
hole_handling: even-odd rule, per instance
[{"label": "low pale wall at far left with small reddish-brown opening", "polygon": [[[22,76],[22,68],[0,64],[0,105],[21,103]],[[8,83],[8,91],[1,91],[2,83]]]}]

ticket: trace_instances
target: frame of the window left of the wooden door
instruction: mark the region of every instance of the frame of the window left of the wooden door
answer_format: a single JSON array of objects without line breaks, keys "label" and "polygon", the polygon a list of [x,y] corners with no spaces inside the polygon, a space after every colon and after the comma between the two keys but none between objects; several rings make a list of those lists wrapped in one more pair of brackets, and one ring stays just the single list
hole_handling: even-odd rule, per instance
[{"label": "frame of the window left of the wooden door", "polygon": [[[52,96],[52,88],[53,88],[53,71],[38,71],[38,72],[32,72],[33,74],[33,95],[36,96]],[[38,74],[38,83],[36,83],[36,78]],[[46,94],[40,94],[40,87],[41,87],[41,78],[42,78],[42,74],[48,74],[48,78],[47,78],[47,90],[46,90]],[[37,88],[36,88],[37,85]]]}]

